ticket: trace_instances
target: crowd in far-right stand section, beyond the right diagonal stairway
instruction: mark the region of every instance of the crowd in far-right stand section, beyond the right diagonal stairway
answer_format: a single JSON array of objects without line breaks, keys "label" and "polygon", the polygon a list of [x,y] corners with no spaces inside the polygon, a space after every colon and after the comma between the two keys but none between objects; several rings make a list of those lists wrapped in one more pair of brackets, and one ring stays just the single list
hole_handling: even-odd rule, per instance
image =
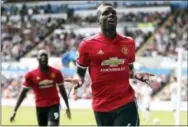
[{"label": "crowd in far-right stand section, beyond the right diagonal stairway", "polygon": [[154,43],[145,50],[143,56],[176,56],[180,49],[188,51],[187,31],[187,11],[179,11],[168,25],[154,34]]}]

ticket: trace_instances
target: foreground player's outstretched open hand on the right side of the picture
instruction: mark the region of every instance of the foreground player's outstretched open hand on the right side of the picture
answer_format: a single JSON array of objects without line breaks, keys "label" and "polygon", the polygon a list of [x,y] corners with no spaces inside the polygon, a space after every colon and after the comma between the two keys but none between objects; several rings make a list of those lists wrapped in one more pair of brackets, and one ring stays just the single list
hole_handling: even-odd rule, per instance
[{"label": "foreground player's outstretched open hand on the right side of the picture", "polygon": [[140,80],[141,82],[144,82],[146,84],[148,84],[151,87],[150,84],[150,77],[155,76],[154,74],[150,74],[150,73],[137,73],[135,74],[135,78]]}]

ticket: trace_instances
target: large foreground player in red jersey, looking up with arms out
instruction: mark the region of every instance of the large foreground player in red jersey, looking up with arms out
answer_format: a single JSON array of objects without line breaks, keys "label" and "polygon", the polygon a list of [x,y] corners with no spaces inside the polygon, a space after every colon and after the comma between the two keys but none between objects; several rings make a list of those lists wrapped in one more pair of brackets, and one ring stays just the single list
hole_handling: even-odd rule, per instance
[{"label": "large foreground player in red jersey, looking up with arms out", "polygon": [[109,3],[97,9],[101,32],[83,39],[78,47],[77,73],[84,83],[88,67],[91,77],[92,107],[98,126],[138,126],[135,93],[129,78],[149,83],[148,73],[133,73],[135,43],[116,32],[117,14]]}]

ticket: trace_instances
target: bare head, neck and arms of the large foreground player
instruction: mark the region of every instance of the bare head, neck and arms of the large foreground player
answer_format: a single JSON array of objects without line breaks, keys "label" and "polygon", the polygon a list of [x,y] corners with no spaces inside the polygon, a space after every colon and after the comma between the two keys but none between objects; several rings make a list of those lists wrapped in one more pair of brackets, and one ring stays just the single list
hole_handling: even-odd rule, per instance
[{"label": "bare head, neck and arms of the large foreground player", "polygon": [[[116,10],[110,5],[101,6],[98,8],[97,18],[98,18],[98,23],[101,27],[102,34],[109,39],[112,39],[112,40],[115,39],[116,34],[117,34],[117,32],[116,32],[116,27],[117,27]],[[130,64],[129,68],[130,68],[130,78],[136,78],[136,79],[150,85],[149,77],[154,76],[153,74],[134,73],[133,64]],[[77,67],[77,73],[81,79],[81,82],[77,83],[77,85],[75,86],[75,89],[77,89],[83,85],[84,77],[86,74],[86,69]]]}]

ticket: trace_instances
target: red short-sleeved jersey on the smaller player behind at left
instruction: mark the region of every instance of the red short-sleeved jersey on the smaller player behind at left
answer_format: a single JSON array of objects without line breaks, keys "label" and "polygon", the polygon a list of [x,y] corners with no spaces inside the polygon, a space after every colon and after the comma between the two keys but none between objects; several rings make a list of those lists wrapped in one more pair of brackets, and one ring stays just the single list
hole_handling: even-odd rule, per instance
[{"label": "red short-sleeved jersey on the smaller player behind at left", "polygon": [[47,73],[43,73],[40,68],[28,72],[23,85],[32,88],[37,107],[47,107],[60,103],[57,84],[61,83],[63,83],[61,72],[49,66]]}]

